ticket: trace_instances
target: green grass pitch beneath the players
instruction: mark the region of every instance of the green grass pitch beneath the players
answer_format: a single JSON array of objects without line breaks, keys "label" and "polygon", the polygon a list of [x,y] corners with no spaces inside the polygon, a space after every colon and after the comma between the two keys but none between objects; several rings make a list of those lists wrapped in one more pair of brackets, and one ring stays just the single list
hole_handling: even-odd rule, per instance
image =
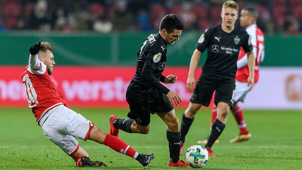
[{"label": "green grass pitch beneath the players", "polygon": [[[75,108],[101,130],[109,131],[109,116],[126,118],[128,109]],[[183,109],[176,109],[181,120]],[[252,138],[241,143],[229,143],[238,134],[231,113],[220,142],[212,149],[205,169],[301,169],[302,168],[302,111],[245,110],[245,120]],[[0,108],[0,169],[90,169],[75,167],[75,162],[52,143],[37,125],[28,108]],[[196,144],[209,134],[210,110],[200,110],[186,136],[184,149]],[[174,169],[168,167],[169,149],[166,125],[157,116],[151,116],[149,134],[120,132],[120,138],[139,153],[154,153],[147,169]],[[135,159],[115,152],[94,141],[78,140],[92,160],[107,164],[104,169],[143,169]],[[184,150],[185,151],[185,150]],[[184,159],[184,154],[180,156]],[[96,168],[94,168],[96,169]]]}]

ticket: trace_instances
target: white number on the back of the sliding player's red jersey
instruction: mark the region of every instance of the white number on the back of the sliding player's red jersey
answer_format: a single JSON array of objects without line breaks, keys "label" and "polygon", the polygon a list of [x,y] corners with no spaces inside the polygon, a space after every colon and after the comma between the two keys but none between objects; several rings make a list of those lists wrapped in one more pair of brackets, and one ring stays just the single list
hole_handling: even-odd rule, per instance
[{"label": "white number on the back of the sliding player's red jersey", "polygon": [[37,106],[39,104],[37,100],[38,96],[28,74],[23,77],[23,86],[27,95],[27,101],[29,103],[30,108]]}]

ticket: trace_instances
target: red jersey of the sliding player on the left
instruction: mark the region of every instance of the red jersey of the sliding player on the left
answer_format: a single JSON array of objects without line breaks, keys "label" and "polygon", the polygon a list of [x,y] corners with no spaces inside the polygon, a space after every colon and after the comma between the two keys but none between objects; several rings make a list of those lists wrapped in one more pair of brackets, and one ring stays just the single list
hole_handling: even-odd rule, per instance
[{"label": "red jersey of the sliding player on the left", "polygon": [[33,70],[28,65],[21,75],[21,79],[29,107],[32,108],[38,124],[46,111],[60,104],[66,105],[62,93],[48,75],[44,63],[40,62],[40,69],[38,70]]}]

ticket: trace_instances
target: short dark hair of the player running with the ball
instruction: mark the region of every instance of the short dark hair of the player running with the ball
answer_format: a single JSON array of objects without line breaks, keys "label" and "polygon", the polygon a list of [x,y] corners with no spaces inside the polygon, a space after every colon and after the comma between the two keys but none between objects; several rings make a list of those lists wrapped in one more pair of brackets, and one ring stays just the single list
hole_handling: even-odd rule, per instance
[{"label": "short dark hair of the player running with the ball", "polygon": [[161,19],[159,25],[159,31],[166,29],[167,33],[172,33],[175,29],[183,30],[185,28],[184,23],[176,14],[168,14]]}]

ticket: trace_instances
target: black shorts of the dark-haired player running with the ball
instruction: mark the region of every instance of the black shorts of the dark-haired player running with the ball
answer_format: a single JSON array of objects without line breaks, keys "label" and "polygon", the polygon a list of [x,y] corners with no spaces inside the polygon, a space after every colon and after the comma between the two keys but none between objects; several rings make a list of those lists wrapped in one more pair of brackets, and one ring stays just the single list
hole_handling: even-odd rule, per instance
[{"label": "black shorts of the dark-haired player running with the ball", "polygon": [[128,117],[134,119],[136,123],[142,126],[150,124],[150,113],[165,114],[174,109],[169,98],[161,92],[159,92],[157,98],[154,98],[152,102],[149,102],[146,99],[137,97],[134,93],[127,90],[126,100],[130,108]]}]

